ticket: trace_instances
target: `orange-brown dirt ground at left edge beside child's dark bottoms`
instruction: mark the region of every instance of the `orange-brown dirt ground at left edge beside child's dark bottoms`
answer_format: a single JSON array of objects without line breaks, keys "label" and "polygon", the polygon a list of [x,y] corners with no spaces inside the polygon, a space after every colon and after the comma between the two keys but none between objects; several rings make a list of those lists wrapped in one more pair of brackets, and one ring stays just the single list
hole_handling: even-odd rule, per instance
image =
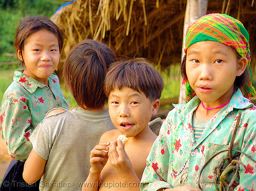
[{"label": "orange-brown dirt ground at left edge beside child's dark bottoms", "polygon": [[2,138],[0,137],[0,182],[4,177],[5,171],[11,161],[11,157],[8,155],[7,147]]}]

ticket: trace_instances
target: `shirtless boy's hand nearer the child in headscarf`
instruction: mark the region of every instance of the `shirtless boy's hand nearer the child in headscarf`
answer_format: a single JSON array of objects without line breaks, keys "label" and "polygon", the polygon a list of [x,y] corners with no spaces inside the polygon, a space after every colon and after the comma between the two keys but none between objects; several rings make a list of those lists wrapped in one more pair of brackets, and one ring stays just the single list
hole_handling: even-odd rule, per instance
[{"label": "shirtless boy's hand nearer the child in headscarf", "polygon": [[[114,169],[119,175],[127,175],[127,172],[134,171],[133,165],[124,151],[124,147],[121,140],[114,140],[110,145],[109,159]],[[122,177],[123,177],[122,176]]]}]

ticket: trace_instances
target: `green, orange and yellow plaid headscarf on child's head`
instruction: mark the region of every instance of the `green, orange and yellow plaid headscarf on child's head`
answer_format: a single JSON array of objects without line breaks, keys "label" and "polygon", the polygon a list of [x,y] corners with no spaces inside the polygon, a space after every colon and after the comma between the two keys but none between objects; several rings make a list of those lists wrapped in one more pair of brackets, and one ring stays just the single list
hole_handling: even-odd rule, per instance
[{"label": "green, orange and yellow plaid headscarf on child's head", "polygon": [[[186,53],[190,45],[207,40],[221,42],[231,46],[241,57],[248,59],[247,67],[250,73],[249,83],[246,87],[240,89],[243,92],[243,96],[246,98],[256,96],[251,80],[249,34],[242,22],[229,15],[219,13],[202,16],[187,28],[184,52]],[[186,102],[188,102],[195,96],[195,91],[191,88],[188,81],[185,82],[185,86]]]}]

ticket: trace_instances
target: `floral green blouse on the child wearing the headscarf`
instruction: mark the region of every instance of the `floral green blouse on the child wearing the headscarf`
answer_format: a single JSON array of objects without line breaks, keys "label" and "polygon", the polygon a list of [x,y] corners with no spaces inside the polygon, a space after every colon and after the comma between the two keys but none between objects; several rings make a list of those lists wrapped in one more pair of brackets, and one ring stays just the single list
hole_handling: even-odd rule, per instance
[{"label": "floral green blouse on the child wearing the headscarf", "polygon": [[[141,190],[151,191],[182,185],[198,187],[203,165],[219,151],[229,149],[239,111],[242,115],[233,149],[256,160],[256,107],[242,96],[240,90],[210,120],[196,144],[192,117],[199,104],[200,100],[196,96],[187,104],[175,105],[168,113],[147,157]],[[228,156],[228,152],[217,155],[206,165],[200,177],[202,190],[216,190],[215,167],[225,156]],[[256,163],[244,154],[241,154],[240,160],[245,166],[240,165],[240,180],[236,179],[236,186],[232,188],[236,191],[256,190]]]}]

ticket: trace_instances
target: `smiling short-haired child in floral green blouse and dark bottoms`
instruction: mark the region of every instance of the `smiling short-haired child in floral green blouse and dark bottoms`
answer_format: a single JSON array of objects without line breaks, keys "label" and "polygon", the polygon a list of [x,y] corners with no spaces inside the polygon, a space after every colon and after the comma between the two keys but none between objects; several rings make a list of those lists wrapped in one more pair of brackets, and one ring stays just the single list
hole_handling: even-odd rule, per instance
[{"label": "smiling short-haired child in floral green blouse and dark bottoms", "polygon": [[38,190],[39,183],[26,186],[22,172],[32,149],[29,137],[37,124],[49,110],[68,108],[59,79],[53,73],[62,45],[63,34],[49,18],[32,16],[20,19],[14,46],[20,65],[25,69],[15,71],[1,104],[0,129],[13,160],[2,181],[5,185],[2,183],[0,190]]}]

